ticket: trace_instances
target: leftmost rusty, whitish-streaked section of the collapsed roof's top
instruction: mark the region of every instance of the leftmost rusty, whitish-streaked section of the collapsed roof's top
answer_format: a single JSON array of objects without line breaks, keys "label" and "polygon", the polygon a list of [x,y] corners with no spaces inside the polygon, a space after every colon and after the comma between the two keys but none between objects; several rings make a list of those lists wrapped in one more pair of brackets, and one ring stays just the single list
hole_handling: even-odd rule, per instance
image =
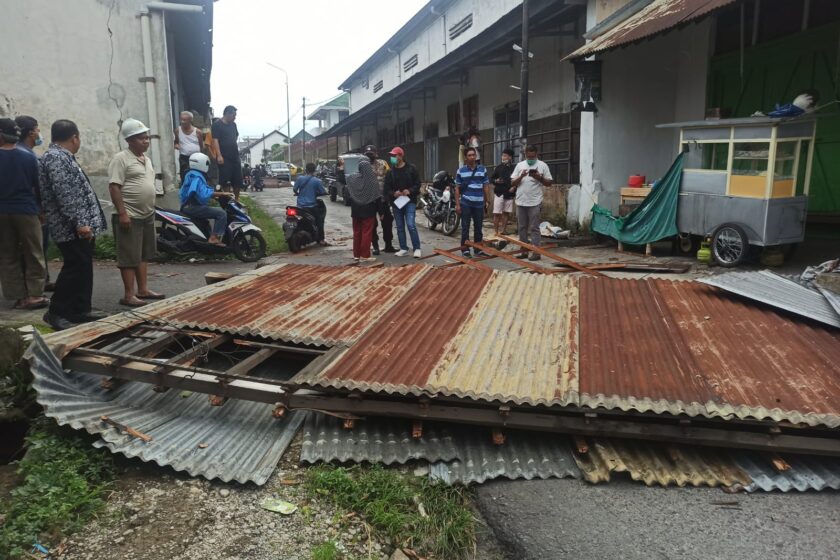
[{"label": "leftmost rusty, whitish-streaked section of the collapsed roof's top", "polygon": [[60,355],[143,322],[333,346],[353,342],[431,267],[279,264],[50,334]]}]

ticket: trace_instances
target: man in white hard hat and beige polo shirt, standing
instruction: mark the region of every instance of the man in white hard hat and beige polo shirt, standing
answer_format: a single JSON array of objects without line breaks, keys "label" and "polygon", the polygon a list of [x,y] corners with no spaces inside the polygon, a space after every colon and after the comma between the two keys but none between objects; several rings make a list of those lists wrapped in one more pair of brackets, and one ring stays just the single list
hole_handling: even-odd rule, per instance
[{"label": "man in white hard hat and beige polo shirt, standing", "polygon": [[[155,254],[155,170],[146,157],[149,127],[126,119],[120,134],[128,144],[108,166],[108,190],[117,214],[112,218],[117,242],[117,267],[124,294],[121,305],[140,307],[150,299],[163,299],[149,289],[147,263]],[[135,285],[137,289],[135,290]]]}]

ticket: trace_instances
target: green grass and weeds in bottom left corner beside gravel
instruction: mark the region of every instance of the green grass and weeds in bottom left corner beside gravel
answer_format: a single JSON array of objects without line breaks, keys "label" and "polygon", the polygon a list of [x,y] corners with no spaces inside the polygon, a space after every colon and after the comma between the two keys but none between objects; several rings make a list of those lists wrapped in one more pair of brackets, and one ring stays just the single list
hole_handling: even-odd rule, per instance
[{"label": "green grass and weeds in bottom left corner beside gravel", "polygon": [[0,506],[0,558],[23,558],[33,543],[49,548],[81,529],[104,506],[114,476],[108,451],[46,418],[33,423],[26,445],[17,470],[23,483]]}]

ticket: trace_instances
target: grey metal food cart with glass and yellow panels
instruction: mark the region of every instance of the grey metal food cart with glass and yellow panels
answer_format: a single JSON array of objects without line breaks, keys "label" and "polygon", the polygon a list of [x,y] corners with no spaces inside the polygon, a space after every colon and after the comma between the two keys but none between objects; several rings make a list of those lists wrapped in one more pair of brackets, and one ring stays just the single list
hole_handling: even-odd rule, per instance
[{"label": "grey metal food cart with glass and yellow panels", "polygon": [[742,118],[657,125],[678,128],[685,154],[677,205],[683,241],[711,235],[721,266],[750,245],[791,246],[805,237],[816,121]]}]

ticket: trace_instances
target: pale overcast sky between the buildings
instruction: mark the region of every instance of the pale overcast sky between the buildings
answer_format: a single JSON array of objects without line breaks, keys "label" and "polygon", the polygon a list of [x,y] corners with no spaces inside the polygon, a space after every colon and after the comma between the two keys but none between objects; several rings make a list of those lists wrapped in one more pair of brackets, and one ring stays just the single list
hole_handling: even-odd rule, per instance
[{"label": "pale overcast sky between the buildings", "polygon": [[[284,125],[285,78],[266,65],[269,61],[289,73],[294,135],[302,125],[302,97],[310,113],[310,100],[338,95],[338,85],[425,3],[400,0],[374,7],[346,0],[216,2],[210,77],[214,112],[221,116],[225,105],[235,105],[242,136]],[[317,122],[307,123],[307,128],[314,126]]]}]

